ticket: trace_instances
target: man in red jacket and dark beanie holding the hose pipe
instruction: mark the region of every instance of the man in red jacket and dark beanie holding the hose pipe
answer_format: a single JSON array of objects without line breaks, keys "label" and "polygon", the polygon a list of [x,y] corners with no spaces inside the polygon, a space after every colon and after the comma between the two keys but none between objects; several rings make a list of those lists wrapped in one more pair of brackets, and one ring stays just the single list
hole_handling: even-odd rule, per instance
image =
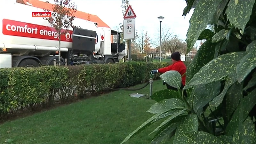
[{"label": "man in red jacket and dark beanie holding the hose pipe", "polygon": [[[180,60],[180,52],[174,52],[172,53],[171,55],[171,58],[172,58],[172,65],[168,66],[168,67],[165,67],[165,68],[159,68],[159,69],[156,69],[156,70],[152,70],[150,73],[151,74],[155,74],[155,73],[165,73],[169,70],[176,70],[180,73],[180,75],[182,76],[181,77],[181,87],[180,89],[182,90],[183,87],[185,86],[185,82],[186,82],[186,75],[185,72],[187,70],[185,64]],[[184,76],[183,76],[184,75]],[[172,90],[177,90],[177,88],[174,88],[168,84],[166,84],[167,88],[168,89],[172,89]]]}]

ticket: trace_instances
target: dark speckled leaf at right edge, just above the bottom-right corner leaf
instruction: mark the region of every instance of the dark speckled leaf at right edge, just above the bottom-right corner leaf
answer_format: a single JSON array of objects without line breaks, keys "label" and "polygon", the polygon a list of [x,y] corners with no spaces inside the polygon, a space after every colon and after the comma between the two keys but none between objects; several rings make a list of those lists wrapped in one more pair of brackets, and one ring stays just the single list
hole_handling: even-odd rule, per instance
[{"label": "dark speckled leaf at right edge, just above the bottom-right corner leaf", "polygon": [[252,110],[252,108],[256,104],[256,89],[254,89],[252,92],[250,92],[246,97],[243,99],[243,120],[249,115],[249,112]]}]

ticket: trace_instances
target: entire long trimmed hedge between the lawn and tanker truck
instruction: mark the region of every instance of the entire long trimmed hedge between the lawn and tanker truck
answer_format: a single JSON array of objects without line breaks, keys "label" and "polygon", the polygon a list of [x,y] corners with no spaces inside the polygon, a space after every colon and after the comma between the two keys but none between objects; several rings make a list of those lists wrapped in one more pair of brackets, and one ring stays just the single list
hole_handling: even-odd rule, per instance
[{"label": "entire long trimmed hedge between the lawn and tanker truck", "polygon": [[150,70],[167,65],[126,62],[0,69],[0,118],[24,108],[39,110],[56,102],[66,103],[92,93],[141,84],[149,80]]}]

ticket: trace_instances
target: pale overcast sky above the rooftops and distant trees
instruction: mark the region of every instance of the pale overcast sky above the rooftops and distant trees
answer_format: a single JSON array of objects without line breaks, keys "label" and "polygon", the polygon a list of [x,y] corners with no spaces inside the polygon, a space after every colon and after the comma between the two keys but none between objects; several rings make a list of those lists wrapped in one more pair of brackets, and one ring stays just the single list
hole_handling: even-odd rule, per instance
[{"label": "pale overcast sky above the rooftops and distant trees", "polygon": [[[42,0],[53,3],[53,0]],[[82,12],[97,15],[108,26],[114,28],[123,23],[121,0],[73,0],[77,9]],[[135,27],[138,31],[144,29],[154,41],[159,33],[160,22],[157,19],[163,16],[162,27],[171,28],[172,32],[181,39],[186,39],[189,28],[191,10],[184,18],[183,9],[186,7],[184,0],[130,0],[132,9],[136,14]]]}]

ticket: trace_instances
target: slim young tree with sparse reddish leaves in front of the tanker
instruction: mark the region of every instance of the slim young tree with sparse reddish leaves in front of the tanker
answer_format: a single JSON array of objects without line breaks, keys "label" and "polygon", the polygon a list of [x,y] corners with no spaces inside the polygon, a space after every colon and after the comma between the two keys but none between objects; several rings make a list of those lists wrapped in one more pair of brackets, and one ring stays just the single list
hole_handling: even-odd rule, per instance
[{"label": "slim young tree with sparse reddish leaves in front of the tanker", "polygon": [[[56,29],[59,35],[59,65],[60,65],[60,37],[68,32],[68,28],[74,28],[73,20],[75,19],[75,13],[77,6],[71,3],[71,0],[54,0],[52,17],[44,17],[44,20],[48,20],[53,28]],[[49,9],[45,9],[45,12],[50,12]],[[64,29],[65,28],[65,29]]]}]

